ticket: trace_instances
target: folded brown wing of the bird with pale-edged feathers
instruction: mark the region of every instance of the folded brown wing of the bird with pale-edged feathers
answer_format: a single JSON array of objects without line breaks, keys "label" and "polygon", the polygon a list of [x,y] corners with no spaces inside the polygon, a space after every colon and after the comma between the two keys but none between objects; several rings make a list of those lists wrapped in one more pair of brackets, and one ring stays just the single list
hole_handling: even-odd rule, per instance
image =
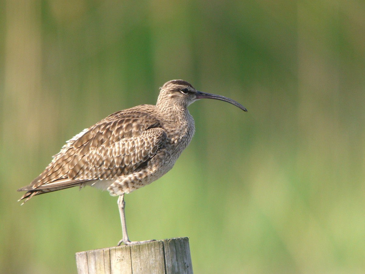
[{"label": "folded brown wing of the bird with pale-edged feathers", "polygon": [[165,141],[165,130],[149,111],[119,111],[67,141],[45,171],[18,191],[28,191],[21,199],[30,198],[130,174],[153,157]]}]

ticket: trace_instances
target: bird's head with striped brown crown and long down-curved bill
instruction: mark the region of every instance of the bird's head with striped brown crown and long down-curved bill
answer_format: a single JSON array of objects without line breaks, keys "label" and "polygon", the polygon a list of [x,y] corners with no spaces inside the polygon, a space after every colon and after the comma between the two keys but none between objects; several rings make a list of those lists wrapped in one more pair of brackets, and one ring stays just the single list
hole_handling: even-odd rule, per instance
[{"label": "bird's head with striped brown crown and long down-curved bill", "polygon": [[247,111],[244,106],[237,103],[235,100],[232,100],[230,98],[221,95],[197,91],[191,84],[189,84],[187,81],[184,80],[171,80],[166,82],[161,87],[160,95],[158,96],[156,105],[171,106],[172,104],[173,106],[176,107],[186,108],[196,100],[205,98],[228,102],[236,107],[239,107],[243,111]]}]

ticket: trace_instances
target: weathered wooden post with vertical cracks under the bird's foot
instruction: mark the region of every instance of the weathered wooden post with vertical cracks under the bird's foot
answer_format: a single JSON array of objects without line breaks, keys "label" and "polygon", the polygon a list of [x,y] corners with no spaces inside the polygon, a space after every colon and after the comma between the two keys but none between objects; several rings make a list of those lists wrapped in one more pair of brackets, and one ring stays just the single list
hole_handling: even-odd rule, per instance
[{"label": "weathered wooden post with vertical cracks under the bird's foot", "polygon": [[193,273],[188,237],[77,252],[76,265],[79,274]]}]

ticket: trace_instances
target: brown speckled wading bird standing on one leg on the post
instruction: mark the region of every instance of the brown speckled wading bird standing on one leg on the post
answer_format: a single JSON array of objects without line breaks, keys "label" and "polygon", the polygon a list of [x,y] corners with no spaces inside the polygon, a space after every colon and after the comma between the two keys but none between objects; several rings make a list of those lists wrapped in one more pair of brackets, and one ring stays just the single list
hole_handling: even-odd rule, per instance
[{"label": "brown speckled wading bird standing on one leg on the post", "polygon": [[205,98],[247,111],[230,98],[197,91],[187,81],[168,81],[160,88],[156,105],[141,104],[117,111],[66,141],[46,169],[29,185],[18,189],[27,191],[19,201],[75,186],[107,190],[110,195],[119,196],[123,237],[118,246],[154,241],[129,240],[124,194],[171,170],[195,133],[194,119],[187,107]]}]

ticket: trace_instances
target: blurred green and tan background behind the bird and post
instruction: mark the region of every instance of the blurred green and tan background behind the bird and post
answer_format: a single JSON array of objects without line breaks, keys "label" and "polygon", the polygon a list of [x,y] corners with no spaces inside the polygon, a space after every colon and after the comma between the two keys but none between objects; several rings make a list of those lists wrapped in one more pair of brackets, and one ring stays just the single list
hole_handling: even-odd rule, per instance
[{"label": "blurred green and tan background behind the bird and post", "polygon": [[0,273],[76,273],[121,239],[117,198],[32,198],[65,141],[154,104],[200,100],[175,167],[126,196],[131,240],[190,237],[195,273],[364,273],[365,2],[0,2]]}]

